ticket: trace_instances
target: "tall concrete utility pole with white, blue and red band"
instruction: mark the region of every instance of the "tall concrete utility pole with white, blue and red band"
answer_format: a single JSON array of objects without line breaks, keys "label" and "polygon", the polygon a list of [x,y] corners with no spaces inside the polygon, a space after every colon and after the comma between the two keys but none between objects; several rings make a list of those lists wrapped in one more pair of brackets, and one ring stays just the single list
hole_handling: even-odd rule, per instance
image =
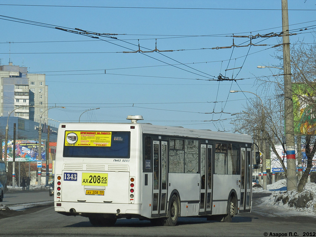
[{"label": "tall concrete utility pole with white, blue and red band", "polygon": [[287,160],[287,191],[297,191],[295,140],[294,140],[294,114],[293,92],[290,60],[289,40],[289,15],[288,0],[282,3],[282,39],[283,39],[283,68],[284,68],[284,123],[286,137],[286,160]]}]

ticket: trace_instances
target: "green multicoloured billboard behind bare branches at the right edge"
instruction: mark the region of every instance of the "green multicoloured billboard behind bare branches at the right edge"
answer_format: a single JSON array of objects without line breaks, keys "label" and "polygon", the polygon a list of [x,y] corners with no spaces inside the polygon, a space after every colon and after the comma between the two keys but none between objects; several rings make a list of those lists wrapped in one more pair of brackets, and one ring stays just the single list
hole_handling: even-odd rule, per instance
[{"label": "green multicoloured billboard behind bare branches at the right edge", "polygon": [[307,102],[316,100],[315,88],[303,83],[292,84],[295,135],[316,135],[315,104]]}]

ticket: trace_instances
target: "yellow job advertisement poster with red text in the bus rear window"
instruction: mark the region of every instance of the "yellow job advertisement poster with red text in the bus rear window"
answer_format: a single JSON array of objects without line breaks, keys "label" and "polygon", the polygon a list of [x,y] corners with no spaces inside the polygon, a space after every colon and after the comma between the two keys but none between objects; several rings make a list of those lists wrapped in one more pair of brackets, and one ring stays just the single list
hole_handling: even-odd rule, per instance
[{"label": "yellow job advertisement poster with red text in the bus rear window", "polygon": [[65,146],[111,146],[112,132],[106,131],[66,131]]}]

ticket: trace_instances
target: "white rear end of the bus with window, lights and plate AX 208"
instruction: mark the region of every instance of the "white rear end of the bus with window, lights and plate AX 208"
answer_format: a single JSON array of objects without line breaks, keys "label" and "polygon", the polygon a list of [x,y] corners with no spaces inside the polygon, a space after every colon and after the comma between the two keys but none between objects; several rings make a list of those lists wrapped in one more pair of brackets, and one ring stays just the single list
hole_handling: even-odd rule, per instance
[{"label": "white rear end of the bus with window, lights and plate AX 208", "polygon": [[141,216],[140,127],[67,123],[58,129],[55,211],[95,226]]}]

